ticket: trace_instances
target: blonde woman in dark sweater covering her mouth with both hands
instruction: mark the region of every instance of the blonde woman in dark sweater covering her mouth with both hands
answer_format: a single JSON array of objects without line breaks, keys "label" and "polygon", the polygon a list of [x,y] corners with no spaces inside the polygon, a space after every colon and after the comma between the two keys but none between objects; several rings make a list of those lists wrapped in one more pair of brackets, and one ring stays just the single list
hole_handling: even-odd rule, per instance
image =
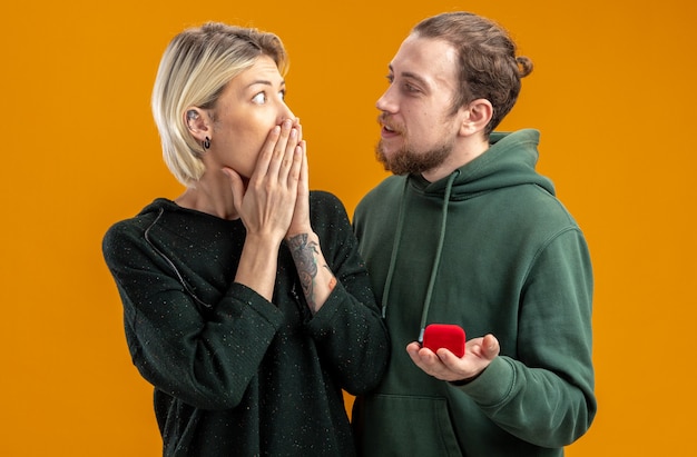
[{"label": "blonde woman in dark sweater covering her mouth with both hands", "polygon": [[165,456],[354,455],[342,389],[365,393],[386,366],[346,211],[307,189],[286,68],[272,33],[175,37],[153,112],[186,190],[104,239]]}]

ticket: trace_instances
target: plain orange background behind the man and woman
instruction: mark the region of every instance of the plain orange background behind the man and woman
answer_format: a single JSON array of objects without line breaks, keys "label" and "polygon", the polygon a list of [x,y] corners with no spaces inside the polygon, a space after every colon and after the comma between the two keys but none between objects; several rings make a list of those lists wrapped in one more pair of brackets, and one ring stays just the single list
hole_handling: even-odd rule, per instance
[{"label": "plain orange background behind the man and woman", "polygon": [[352,213],[385,176],[373,146],[386,64],[411,26],[453,9],[499,20],[534,61],[502,128],[542,131],[539,169],[591,248],[599,413],[567,454],[694,447],[694,2],[48,3],[12,2],[0,28],[0,454],[160,453],[100,242],[110,223],[181,191],[149,111],[176,32],[213,19],[283,38],[312,187]]}]

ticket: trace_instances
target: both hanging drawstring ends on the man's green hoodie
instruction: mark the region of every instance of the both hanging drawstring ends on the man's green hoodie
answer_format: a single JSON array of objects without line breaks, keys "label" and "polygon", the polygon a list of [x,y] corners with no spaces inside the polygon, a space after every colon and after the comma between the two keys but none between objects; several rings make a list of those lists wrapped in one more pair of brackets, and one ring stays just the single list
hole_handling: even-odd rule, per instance
[{"label": "both hanging drawstring ends on the man's green hoodie", "polygon": [[[419,342],[423,342],[423,332],[426,327],[426,318],[429,316],[429,309],[431,308],[431,297],[433,296],[433,288],[435,286],[435,277],[438,276],[438,269],[441,264],[441,257],[443,251],[443,245],[445,242],[445,228],[448,222],[448,203],[450,202],[450,195],[452,192],[452,186],[455,178],[460,175],[460,170],[453,171],[448,178],[448,185],[445,186],[445,193],[443,196],[443,206],[441,210],[441,231],[438,241],[438,248],[435,250],[435,257],[433,258],[433,266],[431,267],[431,278],[429,280],[429,287],[426,289],[426,297],[423,304],[423,310],[421,312],[421,329],[419,331]],[[385,289],[382,295],[382,317],[384,318],[387,311],[387,300],[390,298],[390,288],[392,285],[392,277],[394,276],[394,268],[396,264],[396,255],[402,239],[402,227],[404,225],[404,212],[406,207],[406,187],[409,186],[409,177],[404,179],[404,188],[402,190],[402,198],[400,203],[400,212],[397,216],[396,235],[392,246],[392,256],[390,257],[390,268],[387,269],[387,278],[385,280]]]}]

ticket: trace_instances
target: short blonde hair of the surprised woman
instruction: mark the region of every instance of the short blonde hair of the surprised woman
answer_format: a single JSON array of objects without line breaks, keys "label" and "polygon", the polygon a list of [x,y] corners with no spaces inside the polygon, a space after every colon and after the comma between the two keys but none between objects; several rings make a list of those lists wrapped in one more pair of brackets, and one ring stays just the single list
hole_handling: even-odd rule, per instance
[{"label": "short blonde hair of the surprised woman", "polygon": [[155,79],[151,108],[165,162],[184,186],[194,186],[205,171],[204,148],[189,133],[185,110],[214,108],[226,85],[261,56],[271,57],[286,74],[288,58],[274,33],[207,22],[169,42]]}]

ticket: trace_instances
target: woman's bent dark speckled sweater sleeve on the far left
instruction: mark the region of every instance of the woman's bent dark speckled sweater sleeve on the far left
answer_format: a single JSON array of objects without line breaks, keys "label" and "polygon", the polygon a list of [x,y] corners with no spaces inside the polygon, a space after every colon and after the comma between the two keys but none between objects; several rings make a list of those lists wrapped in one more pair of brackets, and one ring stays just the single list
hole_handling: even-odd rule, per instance
[{"label": "woman's bent dark speckled sweater sleeve on the far left", "polygon": [[102,251],[141,376],[195,407],[238,405],[282,325],[278,309],[233,284],[219,302],[202,311],[134,220],[112,226]]}]

